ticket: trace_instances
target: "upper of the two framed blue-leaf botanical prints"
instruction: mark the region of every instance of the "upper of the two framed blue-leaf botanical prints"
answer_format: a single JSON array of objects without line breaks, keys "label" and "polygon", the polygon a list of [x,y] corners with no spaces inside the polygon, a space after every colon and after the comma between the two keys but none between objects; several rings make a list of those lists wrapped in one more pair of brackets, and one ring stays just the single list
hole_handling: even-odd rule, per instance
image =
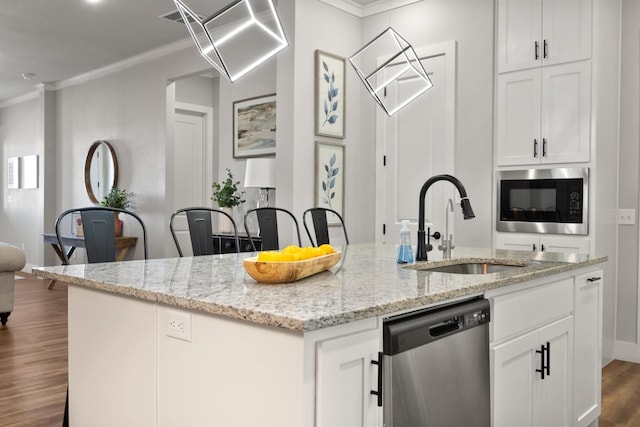
[{"label": "upper of the two framed blue-leaf botanical prints", "polygon": [[316,135],[344,138],[345,59],[316,50]]}]

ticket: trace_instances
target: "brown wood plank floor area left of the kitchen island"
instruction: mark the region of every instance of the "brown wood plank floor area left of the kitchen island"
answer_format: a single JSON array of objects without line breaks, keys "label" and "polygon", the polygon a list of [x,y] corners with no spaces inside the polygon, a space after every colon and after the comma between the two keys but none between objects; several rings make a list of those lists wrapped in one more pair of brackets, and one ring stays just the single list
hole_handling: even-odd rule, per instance
[{"label": "brown wood plank floor area left of the kitchen island", "polygon": [[0,327],[0,425],[61,426],[67,392],[67,286],[16,280],[14,310]]}]

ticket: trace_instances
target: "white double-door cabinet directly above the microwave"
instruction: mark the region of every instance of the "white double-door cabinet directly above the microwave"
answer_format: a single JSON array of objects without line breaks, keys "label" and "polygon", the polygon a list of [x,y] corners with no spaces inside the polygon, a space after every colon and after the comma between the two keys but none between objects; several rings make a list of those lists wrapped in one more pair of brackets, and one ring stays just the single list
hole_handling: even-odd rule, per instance
[{"label": "white double-door cabinet directly above the microwave", "polygon": [[497,164],[588,162],[591,62],[498,75]]}]

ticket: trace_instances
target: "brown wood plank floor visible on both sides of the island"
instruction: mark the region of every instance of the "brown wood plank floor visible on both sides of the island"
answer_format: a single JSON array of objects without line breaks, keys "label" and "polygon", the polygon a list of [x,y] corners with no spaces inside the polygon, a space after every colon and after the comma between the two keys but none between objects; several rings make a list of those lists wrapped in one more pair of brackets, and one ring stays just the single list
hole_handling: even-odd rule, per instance
[{"label": "brown wood plank floor visible on both sides of the island", "polygon": [[[61,426],[67,390],[67,286],[25,275],[0,327],[0,426]],[[613,361],[602,373],[599,427],[640,426],[640,364]]]}]

